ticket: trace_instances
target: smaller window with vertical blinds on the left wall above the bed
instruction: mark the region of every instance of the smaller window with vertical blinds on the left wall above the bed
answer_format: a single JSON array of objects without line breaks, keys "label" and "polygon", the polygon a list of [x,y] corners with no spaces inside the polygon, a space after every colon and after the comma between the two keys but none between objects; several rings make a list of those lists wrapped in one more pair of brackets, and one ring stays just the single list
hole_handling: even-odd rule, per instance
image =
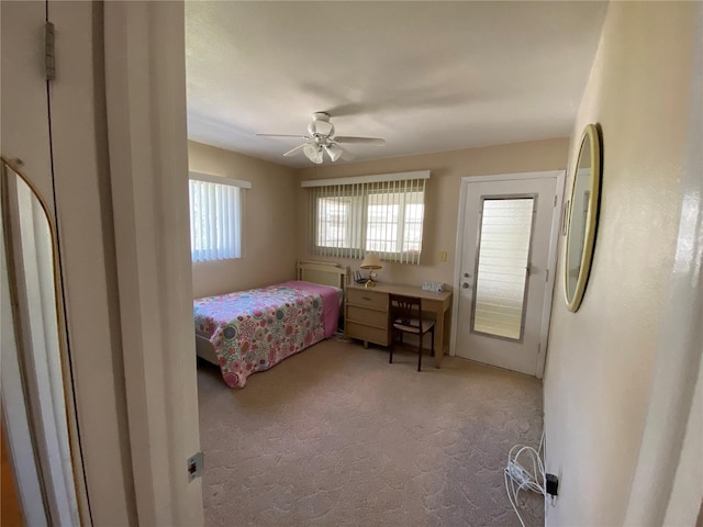
[{"label": "smaller window with vertical blinds on the left wall above the bed", "polygon": [[193,261],[242,257],[242,189],[252,183],[190,172],[190,253]]}]

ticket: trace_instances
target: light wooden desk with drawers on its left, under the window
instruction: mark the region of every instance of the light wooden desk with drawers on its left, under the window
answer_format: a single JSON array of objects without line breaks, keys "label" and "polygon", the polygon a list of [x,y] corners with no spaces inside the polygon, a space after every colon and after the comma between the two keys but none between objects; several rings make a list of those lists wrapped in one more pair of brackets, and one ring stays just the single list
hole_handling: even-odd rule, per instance
[{"label": "light wooden desk with drawers on its left, under the window", "polygon": [[451,292],[435,293],[415,285],[376,282],[375,288],[347,285],[344,327],[349,338],[389,346],[391,330],[389,323],[388,295],[404,294],[422,299],[424,314],[435,316],[435,366],[439,368],[444,354],[449,349],[451,326]]}]

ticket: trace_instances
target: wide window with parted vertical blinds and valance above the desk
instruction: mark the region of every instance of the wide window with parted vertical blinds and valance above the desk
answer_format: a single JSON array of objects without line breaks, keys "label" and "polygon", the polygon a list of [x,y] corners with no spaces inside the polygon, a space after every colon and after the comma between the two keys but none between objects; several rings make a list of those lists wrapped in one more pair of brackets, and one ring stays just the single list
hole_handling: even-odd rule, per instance
[{"label": "wide window with parted vertical blinds and valance above the desk", "polygon": [[317,255],[420,264],[428,171],[303,181]]}]

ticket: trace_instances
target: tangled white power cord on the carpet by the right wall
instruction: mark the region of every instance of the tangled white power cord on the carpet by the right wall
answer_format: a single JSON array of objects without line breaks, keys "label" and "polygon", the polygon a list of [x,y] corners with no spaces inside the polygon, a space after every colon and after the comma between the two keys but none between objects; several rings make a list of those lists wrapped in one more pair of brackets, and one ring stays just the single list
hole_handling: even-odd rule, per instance
[{"label": "tangled white power cord on the carpet by the right wall", "polygon": [[[545,498],[547,497],[545,464],[542,460],[544,440],[545,435],[543,433],[538,450],[524,445],[515,445],[507,453],[507,464],[504,470],[505,492],[523,527],[525,527],[525,523],[517,509],[521,491],[533,491],[542,494]],[[521,457],[526,461],[524,464],[518,462]],[[531,464],[532,467],[529,467]],[[529,468],[532,468],[532,471]]]}]

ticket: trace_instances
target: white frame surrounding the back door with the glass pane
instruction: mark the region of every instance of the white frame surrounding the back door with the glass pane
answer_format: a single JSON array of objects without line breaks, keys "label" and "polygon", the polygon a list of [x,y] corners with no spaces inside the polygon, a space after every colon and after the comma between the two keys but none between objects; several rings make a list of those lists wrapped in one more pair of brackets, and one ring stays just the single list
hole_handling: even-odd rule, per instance
[{"label": "white frame surrounding the back door with the glass pane", "polygon": [[[465,176],[461,178],[461,187],[459,190],[459,213],[457,218],[457,239],[454,256],[454,290],[458,293],[461,287],[461,259],[464,257],[464,228],[466,220],[466,205],[468,200],[468,191],[470,183],[486,183],[511,180],[527,179],[545,179],[555,178],[556,180],[556,203],[555,214],[551,217],[551,229],[549,235],[549,255],[547,257],[549,274],[547,277],[547,285],[545,287],[544,307],[542,310],[542,323],[539,325],[539,351],[537,352],[537,379],[542,379],[545,371],[545,361],[547,357],[547,340],[549,336],[549,322],[551,321],[551,303],[554,299],[555,278],[557,274],[557,247],[559,245],[559,225],[563,215],[563,184],[566,181],[566,170],[545,170],[539,172],[515,172],[499,173],[492,176]],[[449,355],[456,356],[457,347],[457,317],[459,314],[459,295],[454,294],[451,300],[451,310],[455,313],[455,323],[451,324],[451,344]]]}]

